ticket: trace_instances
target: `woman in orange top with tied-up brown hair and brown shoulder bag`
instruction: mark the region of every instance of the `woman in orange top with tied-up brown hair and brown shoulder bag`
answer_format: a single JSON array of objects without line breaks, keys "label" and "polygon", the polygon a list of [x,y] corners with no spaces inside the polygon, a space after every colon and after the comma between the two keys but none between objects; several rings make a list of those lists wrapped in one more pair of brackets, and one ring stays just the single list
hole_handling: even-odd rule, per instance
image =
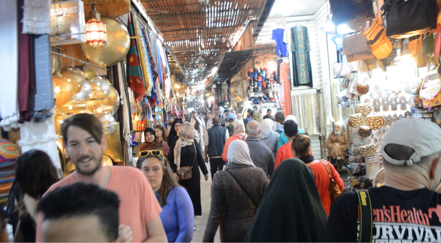
[{"label": "woman in orange top with tied-up brown hair and brown shoulder bag", "polygon": [[334,168],[334,166],[326,160],[314,160],[314,156],[310,155],[311,153],[311,140],[309,136],[306,134],[297,135],[292,142],[292,150],[295,151],[295,158],[303,161],[307,166],[312,169],[315,179],[315,185],[318,189],[318,194],[320,195],[321,204],[323,204],[323,208],[325,208],[326,213],[329,215],[329,209],[331,207],[331,198],[329,197],[329,174],[328,170],[326,170],[325,165],[321,162],[325,162],[329,164],[329,168],[331,168],[332,177],[337,183],[338,187],[340,187],[340,191],[343,191],[343,180],[340,178],[340,175]]}]

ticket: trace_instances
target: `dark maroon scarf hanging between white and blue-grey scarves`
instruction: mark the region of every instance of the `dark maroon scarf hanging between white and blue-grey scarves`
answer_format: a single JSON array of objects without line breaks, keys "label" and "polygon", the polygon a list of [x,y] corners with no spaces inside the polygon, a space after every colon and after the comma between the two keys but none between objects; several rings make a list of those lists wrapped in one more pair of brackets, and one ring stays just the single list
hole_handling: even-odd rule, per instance
[{"label": "dark maroon scarf hanging between white and blue-grey scarves", "polygon": [[34,80],[34,56],[33,56],[33,41],[32,36],[28,34],[22,34],[23,24],[20,22],[23,19],[23,2],[24,0],[18,0],[18,13],[19,18],[19,123],[24,123],[26,115],[29,109],[29,89],[31,80]]}]

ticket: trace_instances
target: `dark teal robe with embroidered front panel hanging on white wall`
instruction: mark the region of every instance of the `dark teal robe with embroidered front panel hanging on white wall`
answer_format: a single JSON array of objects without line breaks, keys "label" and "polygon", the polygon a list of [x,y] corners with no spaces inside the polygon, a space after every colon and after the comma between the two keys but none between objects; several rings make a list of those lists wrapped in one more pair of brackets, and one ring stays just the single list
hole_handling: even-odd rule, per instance
[{"label": "dark teal robe with embroidered front panel hanging on white wall", "polygon": [[308,30],[305,26],[294,26],[291,28],[291,37],[293,85],[296,87],[300,85],[312,87]]}]

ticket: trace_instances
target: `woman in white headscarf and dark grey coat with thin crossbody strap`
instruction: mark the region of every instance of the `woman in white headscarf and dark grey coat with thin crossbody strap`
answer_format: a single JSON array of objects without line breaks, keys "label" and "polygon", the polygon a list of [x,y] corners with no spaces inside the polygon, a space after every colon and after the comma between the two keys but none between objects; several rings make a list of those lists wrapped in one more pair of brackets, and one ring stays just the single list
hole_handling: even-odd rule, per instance
[{"label": "woman in white headscarf and dark grey coat with thin crossbody strap", "polygon": [[225,170],[214,175],[202,242],[213,242],[219,225],[221,242],[243,242],[268,184],[263,169],[251,161],[247,143],[231,142]]}]

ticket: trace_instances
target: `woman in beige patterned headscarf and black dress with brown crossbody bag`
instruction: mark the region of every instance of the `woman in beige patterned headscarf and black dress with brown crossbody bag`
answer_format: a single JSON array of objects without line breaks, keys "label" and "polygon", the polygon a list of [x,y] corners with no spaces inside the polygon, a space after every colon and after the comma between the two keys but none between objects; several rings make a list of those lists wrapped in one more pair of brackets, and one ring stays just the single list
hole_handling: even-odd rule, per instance
[{"label": "woman in beige patterned headscarf and black dress with brown crossbody bag", "polygon": [[168,154],[170,168],[172,168],[175,177],[178,178],[176,170],[179,170],[181,167],[191,167],[191,179],[179,180],[179,185],[185,187],[190,195],[194,216],[202,215],[201,174],[199,173],[199,168],[201,168],[205,180],[208,179],[208,170],[202,157],[201,147],[194,139],[193,125],[188,122],[183,123],[179,128],[178,137],[176,143],[172,144],[174,149],[170,150]]}]

